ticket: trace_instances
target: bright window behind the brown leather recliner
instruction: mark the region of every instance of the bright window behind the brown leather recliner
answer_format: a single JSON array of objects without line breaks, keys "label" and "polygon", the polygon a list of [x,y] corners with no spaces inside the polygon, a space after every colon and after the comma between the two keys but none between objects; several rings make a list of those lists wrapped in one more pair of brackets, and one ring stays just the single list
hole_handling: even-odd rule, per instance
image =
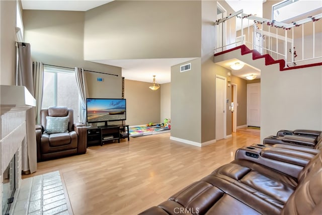
[{"label": "bright window behind the brown leather recliner", "polygon": [[41,108],[66,106],[73,109],[74,121],[79,121],[79,98],[74,70],[44,67],[44,87]]}]

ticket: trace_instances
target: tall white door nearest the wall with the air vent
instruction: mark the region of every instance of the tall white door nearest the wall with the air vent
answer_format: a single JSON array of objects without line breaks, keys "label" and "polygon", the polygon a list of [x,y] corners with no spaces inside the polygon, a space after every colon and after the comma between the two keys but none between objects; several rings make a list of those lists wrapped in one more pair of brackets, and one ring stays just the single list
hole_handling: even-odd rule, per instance
[{"label": "tall white door nearest the wall with the air vent", "polygon": [[226,79],[216,76],[216,140],[226,132]]}]

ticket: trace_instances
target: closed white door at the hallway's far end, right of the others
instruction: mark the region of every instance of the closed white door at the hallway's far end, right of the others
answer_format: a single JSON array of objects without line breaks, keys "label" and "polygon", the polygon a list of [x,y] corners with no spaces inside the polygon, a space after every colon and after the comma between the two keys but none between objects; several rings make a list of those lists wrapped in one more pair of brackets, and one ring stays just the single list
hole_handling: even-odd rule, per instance
[{"label": "closed white door at the hallway's far end, right of the others", "polygon": [[247,85],[247,125],[261,126],[261,83]]}]

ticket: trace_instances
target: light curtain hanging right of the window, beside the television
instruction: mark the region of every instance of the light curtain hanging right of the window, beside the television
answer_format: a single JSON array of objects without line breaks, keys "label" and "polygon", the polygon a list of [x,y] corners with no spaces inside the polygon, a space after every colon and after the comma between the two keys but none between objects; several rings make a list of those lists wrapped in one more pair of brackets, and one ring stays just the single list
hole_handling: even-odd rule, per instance
[{"label": "light curtain hanging right of the window, beside the television", "polygon": [[86,97],[88,89],[83,68],[75,67],[75,77],[79,95],[79,121],[86,123]]}]

